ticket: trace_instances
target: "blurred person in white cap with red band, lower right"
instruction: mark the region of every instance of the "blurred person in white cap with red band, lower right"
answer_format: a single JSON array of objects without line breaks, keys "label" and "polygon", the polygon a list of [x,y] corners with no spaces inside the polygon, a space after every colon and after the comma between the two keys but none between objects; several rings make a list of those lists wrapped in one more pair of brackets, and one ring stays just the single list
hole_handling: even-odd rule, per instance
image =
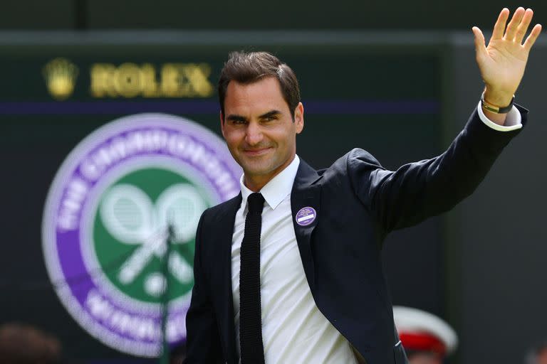
[{"label": "blurred person in white cap with red band, lower right", "polygon": [[454,329],[434,314],[393,306],[393,319],[410,364],[442,364],[457,348]]}]

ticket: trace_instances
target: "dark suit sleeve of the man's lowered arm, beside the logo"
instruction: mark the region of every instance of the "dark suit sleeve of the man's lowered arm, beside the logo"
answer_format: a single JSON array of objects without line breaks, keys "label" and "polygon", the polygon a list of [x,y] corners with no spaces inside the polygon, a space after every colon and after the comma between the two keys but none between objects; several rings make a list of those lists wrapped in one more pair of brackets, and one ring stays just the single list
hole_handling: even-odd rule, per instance
[{"label": "dark suit sleeve of the man's lowered arm, beside the logo", "polygon": [[194,288],[186,316],[187,358],[185,364],[224,363],[217,317],[207,284],[207,274],[202,265],[202,225],[199,219],[194,255]]}]

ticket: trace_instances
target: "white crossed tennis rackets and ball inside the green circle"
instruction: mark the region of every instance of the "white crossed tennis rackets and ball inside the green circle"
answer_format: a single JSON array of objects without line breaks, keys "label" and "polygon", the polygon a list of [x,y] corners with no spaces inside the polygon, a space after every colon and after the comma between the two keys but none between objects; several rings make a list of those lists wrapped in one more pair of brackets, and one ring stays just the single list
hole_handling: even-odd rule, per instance
[{"label": "white crossed tennis rackets and ball inside the green circle", "polygon": [[[152,203],[140,188],[130,184],[110,188],[100,204],[103,225],[119,242],[138,246],[120,267],[120,282],[134,282],[153,257],[164,257],[167,239],[172,244],[192,241],[205,208],[197,189],[188,183],[170,186],[160,194],[156,203]],[[183,284],[192,282],[192,267],[179,252],[172,250],[167,259],[169,271],[175,279]],[[160,272],[146,277],[145,291],[148,294],[159,296],[164,289],[165,277]]]}]

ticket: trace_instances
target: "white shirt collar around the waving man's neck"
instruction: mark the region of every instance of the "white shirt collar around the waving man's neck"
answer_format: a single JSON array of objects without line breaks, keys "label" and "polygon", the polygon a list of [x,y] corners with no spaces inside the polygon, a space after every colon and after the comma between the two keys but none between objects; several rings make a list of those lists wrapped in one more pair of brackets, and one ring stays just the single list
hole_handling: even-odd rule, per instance
[{"label": "white shirt collar around the waving man's neck", "polygon": [[[272,210],[275,210],[276,207],[281,203],[281,201],[286,198],[293,189],[294,178],[296,177],[296,172],[298,171],[298,166],[300,165],[300,159],[297,155],[294,156],[291,164],[285,167],[277,176],[271,178],[271,180],[266,183],[259,192],[264,196],[264,200],[270,206]],[[247,186],[243,183],[244,175],[241,175],[239,178],[239,184],[241,185],[241,206],[245,210],[247,205],[247,198],[253,191],[249,190]]]}]

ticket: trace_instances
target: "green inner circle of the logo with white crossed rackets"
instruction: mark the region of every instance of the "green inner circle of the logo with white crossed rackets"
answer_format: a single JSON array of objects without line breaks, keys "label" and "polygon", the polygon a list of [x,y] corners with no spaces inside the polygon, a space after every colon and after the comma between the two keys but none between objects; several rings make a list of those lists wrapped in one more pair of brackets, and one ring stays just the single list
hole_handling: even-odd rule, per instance
[{"label": "green inner circle of the logo with white crossed rackets", "polygon": [[195,229],[210,205],[199,186],[163,168],[140,168],[100,196],[93,245],[100,269],[132,299],[159,304],[190,294]]}]

